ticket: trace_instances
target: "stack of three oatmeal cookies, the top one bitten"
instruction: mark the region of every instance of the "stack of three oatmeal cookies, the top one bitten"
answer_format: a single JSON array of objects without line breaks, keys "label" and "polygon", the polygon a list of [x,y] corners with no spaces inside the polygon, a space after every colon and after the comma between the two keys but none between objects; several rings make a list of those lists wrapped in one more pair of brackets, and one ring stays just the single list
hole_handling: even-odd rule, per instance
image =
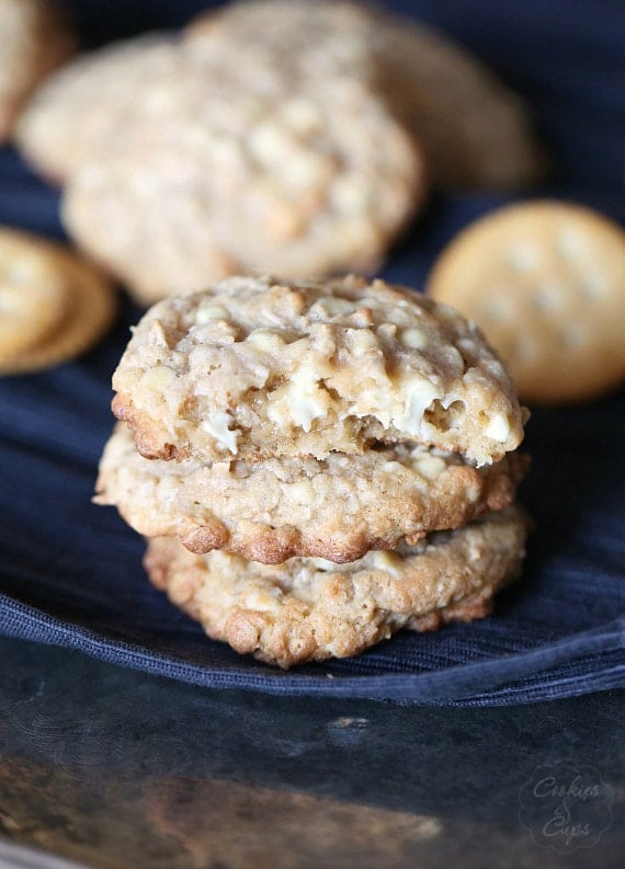
[{"label": "stack of three oatmeal cookies, the top one bitten", "polygon": [[481,334],[376,281],[235,277],[156,305],[96,501],[152,582],[289,666],[485,615],[519,571],[524,411]]}]

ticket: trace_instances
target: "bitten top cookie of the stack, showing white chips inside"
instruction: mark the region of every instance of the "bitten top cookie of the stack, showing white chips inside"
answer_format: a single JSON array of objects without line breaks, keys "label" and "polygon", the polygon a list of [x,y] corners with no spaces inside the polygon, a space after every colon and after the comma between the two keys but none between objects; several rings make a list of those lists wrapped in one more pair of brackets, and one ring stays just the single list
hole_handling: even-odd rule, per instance
[{"label": "bitten top cookie of the stack, showing white chips inside", "polygon": [[478,465],[523,437],[505,368],[446,306],[382,281],[236,277],[148,311],[113,376],[147,458],[325,458],[421,442]]}]

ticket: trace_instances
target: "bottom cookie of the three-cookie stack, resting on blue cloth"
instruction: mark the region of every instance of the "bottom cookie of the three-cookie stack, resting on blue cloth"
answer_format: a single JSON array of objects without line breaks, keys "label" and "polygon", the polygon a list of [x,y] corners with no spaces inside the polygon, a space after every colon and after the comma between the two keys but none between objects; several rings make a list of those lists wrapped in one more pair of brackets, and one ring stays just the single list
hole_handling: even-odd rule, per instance
[{"label": "bottom cookie of the three-cookie stack, resting on blue cloth", "polygon": [[289,667],[359,654],[401,628],[435,630],[487,615],[495,592],[519,573],[526,527],[512,506],[341,567],[299,558],[264,567],[220,551],[194,556],[174,538],[156,538],[145,567],[209,637]]}]

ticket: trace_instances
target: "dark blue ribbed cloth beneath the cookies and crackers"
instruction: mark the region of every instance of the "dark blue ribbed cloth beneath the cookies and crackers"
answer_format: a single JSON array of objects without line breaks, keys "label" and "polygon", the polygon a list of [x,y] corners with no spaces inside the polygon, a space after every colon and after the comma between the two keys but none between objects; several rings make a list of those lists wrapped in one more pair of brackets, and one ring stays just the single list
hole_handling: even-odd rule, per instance
[{"label": "dark blue ribbed cloth beneath the cookies and crackers", "polygon": [[[75,0],[92,44],[177,25],[186,0]],[[554,170],[539,195],[625,218],[625,3],[621,0],[422,0],[389,3],[445,27],[532,104]],[[384,275],[421,286],[442,245],[504,202],[439,196]],[[0,152],[0,222],[59,236],[58,201]],[[624,275],[625,293],[625,275]],[[1,313],[0,313],[1,316]],[[354,660],[289,673],[241,658],[151,588],[141,540],[90,504],[110,433],[110,378],[138,311],[71,365],[0,381],[0,630],[198,685],[396,702],[512,705],[625,681],[625,395],[536,410],[522,500],[536,521],[524,578],[496,615],[404,633]],[[624,324],[625,340],[625,324]],[[44,653],[44,652],[42,652]]]}]

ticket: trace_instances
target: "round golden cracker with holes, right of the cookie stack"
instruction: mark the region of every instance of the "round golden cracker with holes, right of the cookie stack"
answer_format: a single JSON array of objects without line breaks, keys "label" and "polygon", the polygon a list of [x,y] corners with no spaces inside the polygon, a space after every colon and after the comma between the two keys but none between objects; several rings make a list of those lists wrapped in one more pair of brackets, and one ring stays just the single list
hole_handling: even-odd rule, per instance
[{"label": "round golden cracker with holes, right of the cookie stack", "polygon": [[486,332],[521,396],[590,399],[625,379],[625,233],[562,202],[477,220],[434,264],[428,290]]}]

